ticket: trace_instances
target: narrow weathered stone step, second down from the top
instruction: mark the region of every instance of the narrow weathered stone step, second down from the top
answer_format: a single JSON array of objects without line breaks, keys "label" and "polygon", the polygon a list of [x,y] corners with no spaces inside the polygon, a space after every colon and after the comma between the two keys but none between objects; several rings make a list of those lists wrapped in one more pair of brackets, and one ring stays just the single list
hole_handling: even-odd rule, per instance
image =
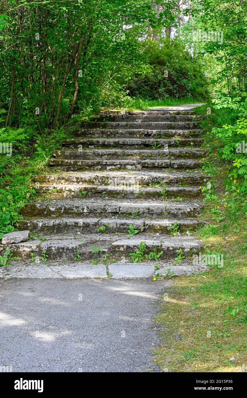
[{"label": "narrow weathered stone step, second down from the top", "polygon": [[108,115],[91,117],[91,122],[194,122],[200,121],[202,116],[199,115]]}]

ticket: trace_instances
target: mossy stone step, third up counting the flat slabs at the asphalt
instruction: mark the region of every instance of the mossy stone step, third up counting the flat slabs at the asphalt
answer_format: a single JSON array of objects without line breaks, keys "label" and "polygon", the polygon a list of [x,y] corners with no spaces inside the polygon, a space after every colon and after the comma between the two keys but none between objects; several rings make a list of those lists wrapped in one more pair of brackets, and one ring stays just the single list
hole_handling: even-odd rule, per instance
[{"label": "mossy stone step, third up counting the flat slabs at the asphalt", "polygon": [[[138,236],[144,231],[154,231],[161,234],[169,234],[168,227],[173,226],[177,222],[179,226],[178,232],[192,230],[198,228],[203,222],[197,220],[168,220],[168,219],[121,219],[121,218],[62,218],[62,219],[22,219],[19,221],[19,230],[30,230],[31,232],[46,234],[83,234],[90,232],[96,234],[122,232],[129,234],[129,226],[133,225],[135,230],[139,230]],[[105,228],[104,230],[98,230]]]}]

